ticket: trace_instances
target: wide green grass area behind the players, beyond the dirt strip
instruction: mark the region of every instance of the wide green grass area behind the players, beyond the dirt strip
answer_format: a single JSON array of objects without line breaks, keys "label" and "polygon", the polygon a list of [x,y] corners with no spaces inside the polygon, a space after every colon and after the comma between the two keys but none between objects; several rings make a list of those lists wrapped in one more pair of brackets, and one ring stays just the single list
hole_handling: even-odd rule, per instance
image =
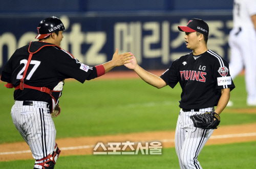
[{"label": "wide green grass area behind the players, beyond the dirt strip", "polygon": [[[234,80],[232,108],[246,108],[244,77]],[[13,125],[13,89],[0,83],[0,143],[24,141]],[[54,118],[57,138],[175,130],[181,88],[157,89],[140,79],[67,81]],[[228,109],[228,108],[226,108]],[[256,123],[256,114],[221,114],[221,125]]]}]

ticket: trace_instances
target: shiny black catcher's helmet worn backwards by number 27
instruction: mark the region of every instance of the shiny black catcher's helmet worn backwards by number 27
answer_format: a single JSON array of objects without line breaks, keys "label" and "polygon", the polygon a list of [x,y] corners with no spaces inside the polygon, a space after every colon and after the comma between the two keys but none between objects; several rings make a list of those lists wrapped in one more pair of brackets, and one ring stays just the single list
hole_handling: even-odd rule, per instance
[{"label": "shiny black catcher's helmet worn backwards by number 27", "polygon": [[38,35],[36,39],[44,39],[56,31],[63,31],[65,27],[61,20],[55,16],[48,17],[39,22],[37,27]]}]

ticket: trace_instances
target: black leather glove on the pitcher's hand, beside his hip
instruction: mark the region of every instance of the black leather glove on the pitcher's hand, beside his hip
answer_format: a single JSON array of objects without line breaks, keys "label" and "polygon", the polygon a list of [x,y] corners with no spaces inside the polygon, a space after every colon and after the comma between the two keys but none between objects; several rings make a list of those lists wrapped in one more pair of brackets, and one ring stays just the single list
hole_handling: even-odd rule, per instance
[{"label": "black leather glove on the pitcher's hand, beside his hip", "polygon": [[206,112],[190,116],[194,126],[200,129],[217,129],[221,122],[221,117],[216,112]]}]

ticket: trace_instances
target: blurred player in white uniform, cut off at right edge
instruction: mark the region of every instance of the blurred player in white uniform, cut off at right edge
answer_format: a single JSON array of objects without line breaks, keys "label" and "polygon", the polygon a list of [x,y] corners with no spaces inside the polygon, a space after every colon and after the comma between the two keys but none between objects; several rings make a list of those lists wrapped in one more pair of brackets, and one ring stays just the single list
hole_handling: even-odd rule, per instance
[{"label": "blurred player in white uniform, cut off at right edge", "polygon": [[256,0],[234,0],[229,46],[230,75],[234,79],[245,67],[247,105],[256,106]]}]

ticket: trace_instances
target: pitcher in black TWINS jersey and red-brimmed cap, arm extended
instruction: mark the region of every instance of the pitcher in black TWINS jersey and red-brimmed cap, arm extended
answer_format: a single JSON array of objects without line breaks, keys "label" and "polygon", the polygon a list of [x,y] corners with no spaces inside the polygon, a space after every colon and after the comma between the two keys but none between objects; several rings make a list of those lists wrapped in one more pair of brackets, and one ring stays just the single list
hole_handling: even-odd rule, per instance
[{"label": "pitcher in black TWINS jersey and red-brimmed cap, arm extended", "polygon": [[185,32],[186,47],[192,52],[175,60],[162,76],[145,71],[137,64],[136,58],[125,66],[157,88],[166,85],[174,88],[180,83],[182,93],[175,133],[176,153],[180,168],[202,168],[198,155],[220,124],[219,115],[228,103],[234,84],[228,63],[207,49],[209,27],[205,21],[193,18],[187,26],[178,29]]}]

